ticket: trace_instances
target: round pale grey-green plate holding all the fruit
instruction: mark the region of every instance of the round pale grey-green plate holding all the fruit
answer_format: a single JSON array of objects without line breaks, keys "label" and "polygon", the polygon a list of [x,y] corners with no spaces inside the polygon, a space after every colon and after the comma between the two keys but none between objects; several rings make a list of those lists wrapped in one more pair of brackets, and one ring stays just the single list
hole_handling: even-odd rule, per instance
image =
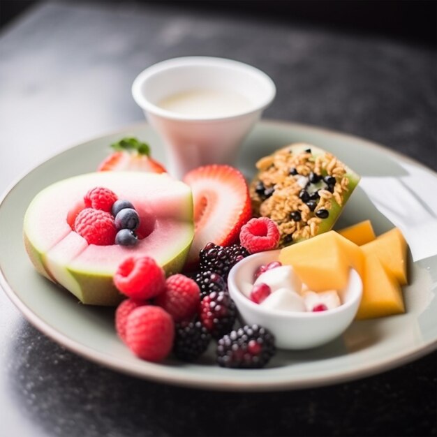
[{"label": "round pale grey-green plate holding all the fruit", "polygon": [[431,352],[437,346],[437,175],[415,161],[341,133],[285,122],[262,121],[244,141],[237,167],[247,178],[255,162],[291,142],[308,142],[338,156],[362,175],[336,228],[369,218],[376,234],[399,227],[409,246],[410,283],[403,288],[407,312],[355,321],[338,339],[310,350],[281,350],[265,369],[223,369],[214,348],[195,364],[136,358],[118,339],[114,310],[77,303],[38,275],[22,242],[22,217],[42,188],[91,172],[112,142],[134,135],[149,142],[165,163],[161,140],[147,124],[66,149],[38,165],[10,188],[0,203],[0,283],[38,329],[69,350],[117,371],[175,385],[214,390],[292,390],[379,373]]}]

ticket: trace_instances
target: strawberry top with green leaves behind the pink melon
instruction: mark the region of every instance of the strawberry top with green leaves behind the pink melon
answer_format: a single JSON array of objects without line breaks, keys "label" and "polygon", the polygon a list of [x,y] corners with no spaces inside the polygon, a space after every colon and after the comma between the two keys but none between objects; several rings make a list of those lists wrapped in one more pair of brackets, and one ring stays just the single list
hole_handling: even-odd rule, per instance
[{"label": "strawberry top with green leaves behind the pink melon", "polygon": [[105,171],[139,171],[165,173],[167,170],[150,157],[150,147],[137,138],[123,138],[111,145],[114,153],[98,165],[98,172]]}]

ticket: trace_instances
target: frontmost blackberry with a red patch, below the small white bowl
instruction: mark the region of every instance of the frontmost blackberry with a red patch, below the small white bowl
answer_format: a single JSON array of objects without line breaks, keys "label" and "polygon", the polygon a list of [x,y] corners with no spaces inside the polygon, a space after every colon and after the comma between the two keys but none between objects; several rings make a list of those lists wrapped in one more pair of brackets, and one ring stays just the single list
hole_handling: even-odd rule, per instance
[{"label": "frontmost blackberry with a red patch, below the small white bowl", "polygon": [[276,353],[274,336],[265,327],[245,325],[218,340],[217,363],[222,367],[259,369]]}]

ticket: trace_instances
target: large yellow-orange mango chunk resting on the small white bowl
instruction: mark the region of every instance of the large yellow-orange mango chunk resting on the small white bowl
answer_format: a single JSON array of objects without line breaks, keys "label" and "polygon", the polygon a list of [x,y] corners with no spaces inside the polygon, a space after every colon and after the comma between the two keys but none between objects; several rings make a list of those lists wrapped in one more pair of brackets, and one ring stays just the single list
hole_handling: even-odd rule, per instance
[{"label": "large yellow-orange mango chunk resting on the small white bowl", "polygon": [[363,276],[364,253],[359,246],[331,230],[281,250],[279,261],[292,265],[310,290],[343,290],[353,267]]}]

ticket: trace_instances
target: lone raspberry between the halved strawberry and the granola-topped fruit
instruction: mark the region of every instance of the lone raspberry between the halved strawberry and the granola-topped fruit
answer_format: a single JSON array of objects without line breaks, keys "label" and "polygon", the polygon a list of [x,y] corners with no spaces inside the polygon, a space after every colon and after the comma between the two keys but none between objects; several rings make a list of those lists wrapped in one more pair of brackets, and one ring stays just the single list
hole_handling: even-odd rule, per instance
[{"label": "lone raspberry between the halved strawberry and the granola-topped fruit", "polygon": [[250,253],[276,249],[279,244],[278,225],[268,217],[251,218],[239,232],[239,241]]}]

